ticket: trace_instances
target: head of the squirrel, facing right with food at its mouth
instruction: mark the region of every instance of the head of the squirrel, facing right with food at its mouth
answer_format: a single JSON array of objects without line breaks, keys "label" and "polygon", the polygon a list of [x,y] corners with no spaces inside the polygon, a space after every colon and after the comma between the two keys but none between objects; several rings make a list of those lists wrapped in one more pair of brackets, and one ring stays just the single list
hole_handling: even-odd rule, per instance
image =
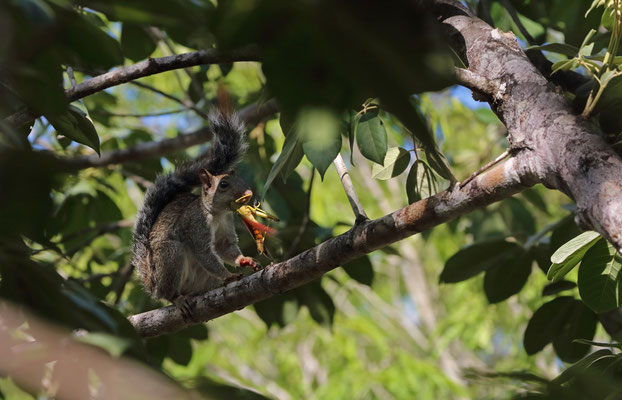
[{"label": "head of the squirrel, facing right with food at its mouth", "polygon": [[242,196],[252,196],[248,184],[237,177],[233,171],[214,175],[206,169],[199,171],[201,180],[201,201],[203,206],[214,214],[227,212],[231,209],[231,203]]}]

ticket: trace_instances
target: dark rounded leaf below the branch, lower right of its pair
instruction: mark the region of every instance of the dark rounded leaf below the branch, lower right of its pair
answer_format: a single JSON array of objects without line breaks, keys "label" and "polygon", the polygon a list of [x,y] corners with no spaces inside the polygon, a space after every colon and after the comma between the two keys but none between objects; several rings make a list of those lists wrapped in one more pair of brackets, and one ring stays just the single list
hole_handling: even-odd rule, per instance
[{"label": "dark rounded leaf below the branch, lower right of its pair", "polygon": [[484,275],[484,293],[491,304],[503,301],[521,291],[531,273],[532,258],[526,251],[522,254],[512,252],[514,256],[507,262],[486,270]]}]

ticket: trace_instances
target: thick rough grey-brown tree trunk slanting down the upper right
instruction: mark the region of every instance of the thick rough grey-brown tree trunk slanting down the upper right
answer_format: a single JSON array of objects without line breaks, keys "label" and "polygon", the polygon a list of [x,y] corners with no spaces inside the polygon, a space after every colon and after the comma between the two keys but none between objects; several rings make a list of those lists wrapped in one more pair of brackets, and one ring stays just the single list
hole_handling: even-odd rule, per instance
[{"label": "thick rough grey-brown tree trunk slanting down the upper right", "polygon": [[468,70],[500,82],[488,91],[491,107],[508,129],[517,165],[577,204],[584,225],[622,250],[622,160],[594,126],[572,113],[555,86],[538,72],[512,33],[493,29],[460,2],[435,0],[437,15]]}]

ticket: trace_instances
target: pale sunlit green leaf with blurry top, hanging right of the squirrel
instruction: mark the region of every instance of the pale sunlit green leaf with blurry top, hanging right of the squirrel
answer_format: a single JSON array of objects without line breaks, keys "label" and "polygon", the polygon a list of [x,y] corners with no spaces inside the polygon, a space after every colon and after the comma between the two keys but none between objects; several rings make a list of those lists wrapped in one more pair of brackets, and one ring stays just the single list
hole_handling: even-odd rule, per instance
[{"label": "pale sunlit green leaf with blurry top, hanging right of the squirrel", "polygon": [[311,108],[301,112],[298,127],[302,150],[324,179],[324,173],[341,150],[341,124],[332,112]]}]

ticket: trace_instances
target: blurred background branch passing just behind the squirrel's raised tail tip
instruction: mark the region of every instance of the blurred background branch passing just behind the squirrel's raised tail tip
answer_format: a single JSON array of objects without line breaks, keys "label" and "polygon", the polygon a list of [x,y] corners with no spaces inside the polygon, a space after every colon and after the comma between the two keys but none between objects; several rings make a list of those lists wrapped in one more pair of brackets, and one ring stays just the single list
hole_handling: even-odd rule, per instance
[{"label": "blurred background branch passing just behind the squirrel's raised tail tip", "polygon": [[[240,118],[247,125],[255,125],[263,118],[276,113],[278,110],[274,100],[269,100],[261,105],[252,104],[240,110]],[[84,169],[89,167],[104,167],[111,164],[120,164],[127,161],[137,161],[146,158],[158,157],[163,154],[183,150],[188,147],[205,143],[212,138],[209,127],[203,127],[196,132],[179,135],[172,139],[164,139],[159,142],[145,142],[122,150],[103,152],[101,156],[90,154],[65,160],[72,169]]]}]

